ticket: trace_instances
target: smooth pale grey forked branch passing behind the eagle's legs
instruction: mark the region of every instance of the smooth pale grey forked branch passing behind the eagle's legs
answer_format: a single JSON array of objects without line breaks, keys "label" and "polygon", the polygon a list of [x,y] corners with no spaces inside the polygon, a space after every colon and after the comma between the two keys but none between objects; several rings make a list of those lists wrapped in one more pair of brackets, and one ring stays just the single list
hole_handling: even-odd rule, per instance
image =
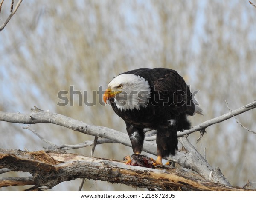
[{"label": "smooth pale grey forked branch passing behind the eagle's legs", "polygon": [[[222,122],[233,116],[246,112],[250,109],[254,109],[255,107],[256,107],[256,101],[253,101],[252,103],[246,106],[233,110],[232,113],[229,112],[220,117],[207,120],[199,124],[198,126],[192,127],[192,129],[190,130],[179,132],[178,133],[179,141],[183,145],[183,147],[186,149],[187,152],[177,151],[175,156],[169,156],[167,159],[175,163],[178,163],[180,166],[196,171],[206,180],[210,179],[215,183],[230,185],[230,183],[227,182],[227,180],[224,178],[223,174],[218,168],[213,169],[209,165],[209,163],[207,163],[207,160],[205,160],[204,157],[202,157],[201,154],[198,153],[195,147],[192,146],[191,143],[189,143],[189,140],[186,137],[180,137],[180,136],[186,136],[188,134],[191,134],[192,132],[195,132],[198,130],[204,130],[205,128],[207,128],[212,124]],[[99,140],[97,140],[97,144],[98,142],[103,140],[103,138],[104,139],[106,138],[107,141],[115,141],[116,143],[122,143],[126,146],[131,146],[131,142],[128,137],[128,134],[125,134],[113,129],[109,129],[107,127],[89,125],[84,122],[74,120],[70,117],[63,116],[61,114],[56,114],[49,111],[38,109],[37,107],[35,107],[35,109],[31,109],[31,111],[32,113],[30,114],[0,112],[0,120],[12,122],[12,123],[24,123],[24,124],[53,123],[56,125],[67,127],[74,131],[79,131],[84,134],[100,137]],[[155,137],[155,136],[150,136],[148,138],[152,138],[152,137]],[[95,140],[89,143],[90,145],[94,144],[95,146]],[[157,145],[148,141],[144,141],[143,151],[153,155],[157,155]]]}]

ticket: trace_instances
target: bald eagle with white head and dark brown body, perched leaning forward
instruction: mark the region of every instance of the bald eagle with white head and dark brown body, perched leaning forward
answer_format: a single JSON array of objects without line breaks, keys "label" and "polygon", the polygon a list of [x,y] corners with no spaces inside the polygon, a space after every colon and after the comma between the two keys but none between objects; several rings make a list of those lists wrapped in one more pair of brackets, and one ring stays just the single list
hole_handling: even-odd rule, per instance
[{"label": "bald eagle with white head and dark brown body, perched leaning forward", "polygon": [[135,154],[143,148],[143,129],[157,130],[157,160],[175,155],[177,131],[190,128],[187,115],[202,114],[177,71],[166,68],[140,68],[124,72],[108,84],[103,100],[112,106],[126,124]]}]

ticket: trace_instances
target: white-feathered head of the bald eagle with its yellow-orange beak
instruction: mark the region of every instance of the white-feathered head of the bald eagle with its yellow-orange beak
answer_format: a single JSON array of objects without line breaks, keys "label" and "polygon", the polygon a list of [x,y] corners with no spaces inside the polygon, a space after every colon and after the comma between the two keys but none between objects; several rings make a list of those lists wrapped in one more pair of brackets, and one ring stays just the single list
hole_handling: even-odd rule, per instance
[{"label": "white-feathered head of the bald eagle with its yellow-orange beak", "polygon": [[121,74],[108,84],[108,89],[103,95],[106,103],[109,98],[115,99],[118,109],[140,110],[146,107],[150,98],[150,85],[143,77],[134,74]]}]

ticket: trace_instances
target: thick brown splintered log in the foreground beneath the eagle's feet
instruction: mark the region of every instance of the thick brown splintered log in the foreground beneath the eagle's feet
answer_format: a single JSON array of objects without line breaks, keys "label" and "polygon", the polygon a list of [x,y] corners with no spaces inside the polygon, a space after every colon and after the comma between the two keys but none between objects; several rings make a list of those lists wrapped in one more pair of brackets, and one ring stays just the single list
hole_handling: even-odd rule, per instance
[{"label": "thick brown splintered log in the foreground beneath the eagle's feet", "polygon": [[0,187],[35,185],[31,190],[41,190],[43,187],[51,189],[63,181],[87,178],[164,191],[252,191],[205,181],[194,174],[170,167],[150,169],[129,166],[116,160],[56,151],[0,149],[0,167],[32,174],[32,177],[1,178]]}]

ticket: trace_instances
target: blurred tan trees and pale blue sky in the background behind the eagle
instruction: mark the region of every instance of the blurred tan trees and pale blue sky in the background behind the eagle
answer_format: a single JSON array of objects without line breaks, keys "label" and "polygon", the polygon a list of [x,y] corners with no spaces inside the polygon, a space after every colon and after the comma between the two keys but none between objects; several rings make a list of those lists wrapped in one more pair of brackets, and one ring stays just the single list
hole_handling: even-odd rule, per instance
[{"label": "blurred tan trees and pale blue sky in the background behind the eagle", "polygon": [[[10,2],[10,1],[9,1]],[[1,21],[9,15],[4,1]],[[125,123],[102,97],[114,76],[140,67],[175,69],[200,90],[195,96],[204,116],[191,117],[192,126],[244,106],[256,98],[256,10],[247,0],[27,0],[0,32],[0,110],[29,112],[32,106],[73,117],[89,124],[126,132]],[[87,91],[79,106],[70,86]],[[59,91],[74,106],[58,106]],[[241,114],[239,121],[256,129],[256,111]],[[47,144],[23,125],[0,122],[2,148],[39,150]],[[76,144],[92,136],[52,124],[34,125],[43,137],[56,144]],[[235,119],[211,126],[196,144],[199,133],[189,136],[219,166],[234,186],[256,180],[256,135],[241,128]],[[205,149],[206,148],[206,149]],[[70,150],[90,155],[90,147]],[[122,160],[132,154],[120,144],[96,146],[96,157]],[[13,173],[15,176],[15,173]],[[5,176],[5,174],[3,174]],[[61,183],[51,191],[77,191],[80,180]],[[20,191],[26,187],[1,188]],[[135,191],[129,186],[87,180],[84,191]],[[143,191],[143,189],[137,189]]]}]

